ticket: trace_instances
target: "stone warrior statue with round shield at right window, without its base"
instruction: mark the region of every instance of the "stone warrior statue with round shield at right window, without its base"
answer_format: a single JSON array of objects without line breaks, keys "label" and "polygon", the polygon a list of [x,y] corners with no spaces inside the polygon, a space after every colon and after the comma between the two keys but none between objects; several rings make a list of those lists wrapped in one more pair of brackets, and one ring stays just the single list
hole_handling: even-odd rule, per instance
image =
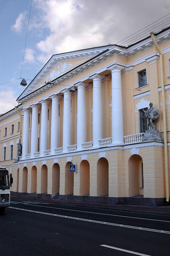
[{"label": "stone warrior statue with round shield at right window, without its base", "polygon": [[147,126],[156,129],[155,122],[159,117],[159,111],[157,108],[153,108],[153,103],[150,103],[150,108],[146,111],[143,109],[145,116],[147,116]]}]

